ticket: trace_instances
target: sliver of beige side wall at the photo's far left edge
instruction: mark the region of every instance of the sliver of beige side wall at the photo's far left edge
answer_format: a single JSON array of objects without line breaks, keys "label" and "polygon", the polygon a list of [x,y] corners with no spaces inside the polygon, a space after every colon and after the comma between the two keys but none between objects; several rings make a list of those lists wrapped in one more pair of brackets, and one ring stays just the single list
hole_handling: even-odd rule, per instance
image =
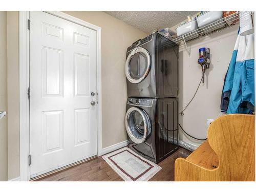
[{"label": "sliver of beige side wall at the photo's far left edge", "polygon": [[[0,111],[7,111],[7,50],[6,11],[0,11]],[[0,181],[6,181],[7,169],[7,116],[0,119]]]}]

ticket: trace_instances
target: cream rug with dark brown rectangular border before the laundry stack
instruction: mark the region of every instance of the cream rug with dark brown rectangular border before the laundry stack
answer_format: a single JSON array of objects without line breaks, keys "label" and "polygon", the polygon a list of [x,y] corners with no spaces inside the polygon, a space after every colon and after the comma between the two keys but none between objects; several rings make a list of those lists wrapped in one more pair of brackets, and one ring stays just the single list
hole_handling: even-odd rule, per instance
[{"label": "cream rug with dark brown rectangular border before the laundry stack", "polygon": [[141,157],[128,147],[120,148],[102,158],[124,181],[148,181],[161,169],[160,166]]}]

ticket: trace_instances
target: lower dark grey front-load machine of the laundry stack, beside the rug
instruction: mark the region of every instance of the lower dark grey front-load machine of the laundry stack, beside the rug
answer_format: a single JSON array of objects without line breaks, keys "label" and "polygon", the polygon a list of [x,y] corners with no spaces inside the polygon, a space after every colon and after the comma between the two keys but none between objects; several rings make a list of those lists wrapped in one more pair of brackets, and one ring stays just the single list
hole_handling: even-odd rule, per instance
[{"label": "lower dark grey front-load machine of the laundry stack, beside the rug", "polygon": [[178,99],[128,98],[125,128],[131,150],[159,163],[178,150]]}]

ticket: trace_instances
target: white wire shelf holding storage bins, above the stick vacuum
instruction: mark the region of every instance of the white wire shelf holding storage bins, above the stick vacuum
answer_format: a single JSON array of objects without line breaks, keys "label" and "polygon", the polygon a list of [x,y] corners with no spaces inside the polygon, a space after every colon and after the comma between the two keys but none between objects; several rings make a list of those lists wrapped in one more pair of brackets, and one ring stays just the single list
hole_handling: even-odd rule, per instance
[{"label": "white wire shelf holding storage bins, above the stick vacuum", "polygon": [[186,33],[185,35],[179,36],[173,39],[173,41],[179,46],[183,46],[183,45],[186,46],[186,42],[199,39],[211,33],[218,32],[222,29],[225,29],[237,24],[239,24],[239,11],[231,15],[228,15],[226,17],[223,17],[217,20],[216,22],[212,22],[204,27],[201,27],[199,29]]}]

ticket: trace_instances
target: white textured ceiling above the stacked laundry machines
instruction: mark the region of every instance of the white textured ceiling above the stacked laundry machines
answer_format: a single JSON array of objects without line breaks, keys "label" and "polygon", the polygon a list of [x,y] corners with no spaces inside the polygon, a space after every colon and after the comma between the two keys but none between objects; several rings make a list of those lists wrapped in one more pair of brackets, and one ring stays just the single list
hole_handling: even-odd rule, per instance
[{"label": "white textured ceiling above the stacked laundry machines", "polygon": [[146,33],[173,27],[198,11],[105,11]]}]

